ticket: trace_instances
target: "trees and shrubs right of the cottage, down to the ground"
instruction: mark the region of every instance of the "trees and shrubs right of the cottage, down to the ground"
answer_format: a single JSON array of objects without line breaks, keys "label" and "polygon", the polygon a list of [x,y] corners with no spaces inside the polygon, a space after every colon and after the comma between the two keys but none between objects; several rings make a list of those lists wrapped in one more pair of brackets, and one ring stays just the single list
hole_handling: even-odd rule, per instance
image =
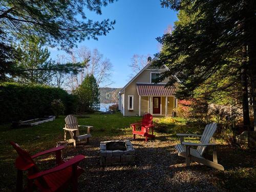
[{"label": "trees and shrubs right of the cottage, down to the ground", "polygon": [[[189,101],[192,114],[202,119],[216,121],[207,117],[211,103],[242,106],[243,129],[254,126],[255,131],[256,1],[163,0],[161,5],[178,11],[178,20],[173,31],[157,38],[162,50],[156,66],[164,63],[169,69],[159,81],[168,77],[173,86],[179,79],[176,97]],[[223,116],[223,110],[215,113]],[[233,128],[236,110],[226,117],[227,129]]]}]

